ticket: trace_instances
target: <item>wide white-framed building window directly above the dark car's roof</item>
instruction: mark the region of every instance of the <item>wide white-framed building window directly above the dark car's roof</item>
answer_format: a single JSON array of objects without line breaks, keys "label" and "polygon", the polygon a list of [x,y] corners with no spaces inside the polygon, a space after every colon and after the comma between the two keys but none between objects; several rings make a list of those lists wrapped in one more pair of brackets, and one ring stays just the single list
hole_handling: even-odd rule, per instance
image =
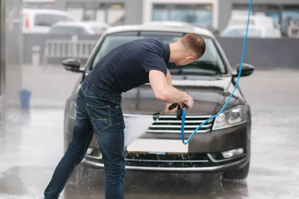
[{"label": "wide white-framed building window directly above the dark car's roof", "polygon": [[154,3],[152,21],[184,21],[200,27],[212,26],[211,4]]}]

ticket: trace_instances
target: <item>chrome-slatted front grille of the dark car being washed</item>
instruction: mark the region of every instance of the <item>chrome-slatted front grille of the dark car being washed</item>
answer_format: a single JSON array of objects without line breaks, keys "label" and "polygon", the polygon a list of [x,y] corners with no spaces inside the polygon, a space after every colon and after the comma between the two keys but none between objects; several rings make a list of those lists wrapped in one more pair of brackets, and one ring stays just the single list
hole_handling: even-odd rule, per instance
[{"label": "chrome-slatted front grille of the dark car being washed", "polygon": [[[193,133],[194,130],[212,115],[186,115],[184,133]],[[211,119],[197,130],[197,133],[206,133],[211,131],[214,119]],[[161,115],[152,122],[147,129],[152,133],[181,133],[181,120],[175,115]]]}]

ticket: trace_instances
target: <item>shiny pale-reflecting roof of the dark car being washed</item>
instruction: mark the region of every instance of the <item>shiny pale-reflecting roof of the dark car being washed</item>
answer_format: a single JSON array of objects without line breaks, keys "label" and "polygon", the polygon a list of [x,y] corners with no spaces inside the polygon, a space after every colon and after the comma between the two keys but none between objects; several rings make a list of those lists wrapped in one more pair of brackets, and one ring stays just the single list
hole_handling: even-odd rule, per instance
[{"label": "shiny pale-reflecting roof of the dark car being washed", "polygon": [[106,30],[105,34],[112,34],[118,32],[129,32],[129,31],[161,31],[161,32],[181,32],[181,33],[190,33],[194,32],[207,37],[214,37],[212,32],[205,28],[199,27],[186,27],[186,26],[178,26],[178,27],[167,27],[163,25],[120,25],[110,27]]}]

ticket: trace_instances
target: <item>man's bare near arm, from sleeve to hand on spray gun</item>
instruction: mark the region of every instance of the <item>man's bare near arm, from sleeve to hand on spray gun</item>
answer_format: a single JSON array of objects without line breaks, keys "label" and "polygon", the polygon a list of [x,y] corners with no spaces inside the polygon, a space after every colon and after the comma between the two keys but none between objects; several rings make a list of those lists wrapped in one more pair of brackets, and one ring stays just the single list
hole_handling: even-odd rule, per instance
[{"label": "man's bare near arm, from sleeve to hand on spray gun", "polygon": [[[168,73],[169,71],[167,71],[167,74]],[[169,78],[167,80],[162,72],[157,70],[149,71],[149,84],[154,92],[155,97],[158,100],[162,100],[166,103],[180,103],[190,100],[190,97],[187,93],[179,91],[172,86],[169,86],[168,81]]]}]

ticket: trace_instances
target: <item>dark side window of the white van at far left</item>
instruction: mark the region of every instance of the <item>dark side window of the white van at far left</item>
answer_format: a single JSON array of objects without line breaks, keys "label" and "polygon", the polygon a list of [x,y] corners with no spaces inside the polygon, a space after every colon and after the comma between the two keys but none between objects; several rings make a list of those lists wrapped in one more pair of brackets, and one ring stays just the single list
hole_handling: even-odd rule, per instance
[{"label": "dark side window of the white van at far left", "polygon": [[59,21],[73,21],[72,18],[65,15],[57,14],[36,14],[34,25],[51,26]]}]

